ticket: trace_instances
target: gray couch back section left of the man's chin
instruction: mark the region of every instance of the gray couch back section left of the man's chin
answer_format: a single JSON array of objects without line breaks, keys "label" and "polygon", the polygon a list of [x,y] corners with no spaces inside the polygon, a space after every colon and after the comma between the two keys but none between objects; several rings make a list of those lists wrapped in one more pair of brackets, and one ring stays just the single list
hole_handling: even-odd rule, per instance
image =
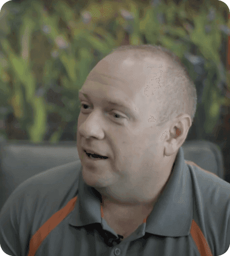
[{"label": "gray couch back section left of the man's chin", "polygon": [[78,160],[74,143],[70,145],[2,146],[0,166],[0,209],[14,189],[26,179],[47,169]]}]

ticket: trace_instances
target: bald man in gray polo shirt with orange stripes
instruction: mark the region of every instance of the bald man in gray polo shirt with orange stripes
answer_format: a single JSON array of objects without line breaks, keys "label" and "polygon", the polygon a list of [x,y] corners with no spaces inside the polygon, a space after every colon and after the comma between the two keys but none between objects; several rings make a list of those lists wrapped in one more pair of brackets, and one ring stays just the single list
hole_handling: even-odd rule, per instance
[{"label": "bald man in gray polo shirt with orange stripes", "polygon": [[[163,47],[119,47],[79,91],[75,165],[17,187],[0,213],[9,255],[221,255],[229,183],[184,159],[196,89]],[[80,172],[79,172],[80,170]]]}]

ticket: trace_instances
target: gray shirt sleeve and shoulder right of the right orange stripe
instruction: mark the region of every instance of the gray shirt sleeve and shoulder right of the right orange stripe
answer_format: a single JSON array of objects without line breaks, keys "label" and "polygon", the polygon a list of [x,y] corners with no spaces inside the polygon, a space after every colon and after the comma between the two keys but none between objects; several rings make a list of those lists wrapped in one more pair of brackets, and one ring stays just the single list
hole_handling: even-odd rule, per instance
[{"label": "gray shirt sleeve and shoulder right of the right orange stripe", "polygon": [[230,244],[230,184],[192,162],[188,164],[193,196],[193,219],[211,250],[221,255]]}]

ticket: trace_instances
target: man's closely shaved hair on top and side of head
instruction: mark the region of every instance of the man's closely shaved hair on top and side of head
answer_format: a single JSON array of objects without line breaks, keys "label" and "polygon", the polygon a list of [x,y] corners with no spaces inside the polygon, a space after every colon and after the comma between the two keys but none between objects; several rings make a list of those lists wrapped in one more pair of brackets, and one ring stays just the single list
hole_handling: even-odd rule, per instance
[{"label": "man's closely shaved hair on top and side of head", "polygon": [[[163,126],[181,113],[189,114],[193,122],[197,105],[196,87],[180,59],[171,51],[153,45],[120,46],[106,58],[114,58],[114,62],[126,58],[126,63],[138,62],[143,66],[139,73],[146,76],[143,81],[150,81],[145,85],[146,95],[154,95],[152,100],[157,99],[159,103],[158,126]],[[140,85],[144,85],[143,81]],[[158,85],[152,86],[151,81],[158,82]]]}]

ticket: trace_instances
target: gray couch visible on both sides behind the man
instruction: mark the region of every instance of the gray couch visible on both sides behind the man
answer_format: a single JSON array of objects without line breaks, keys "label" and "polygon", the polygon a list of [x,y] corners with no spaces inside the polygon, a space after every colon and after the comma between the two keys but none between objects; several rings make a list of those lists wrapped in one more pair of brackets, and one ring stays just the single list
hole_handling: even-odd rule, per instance
[{"label": "gray couch visible on both sides behind the man", "polygon": [[[185,159],[224,179],[223,155],[209,141],[186,141]],[[26,179],[47,169],[79,159],[76,142],[58,145],[5,141],[0,138],[0,210],[14,189]]]}]

